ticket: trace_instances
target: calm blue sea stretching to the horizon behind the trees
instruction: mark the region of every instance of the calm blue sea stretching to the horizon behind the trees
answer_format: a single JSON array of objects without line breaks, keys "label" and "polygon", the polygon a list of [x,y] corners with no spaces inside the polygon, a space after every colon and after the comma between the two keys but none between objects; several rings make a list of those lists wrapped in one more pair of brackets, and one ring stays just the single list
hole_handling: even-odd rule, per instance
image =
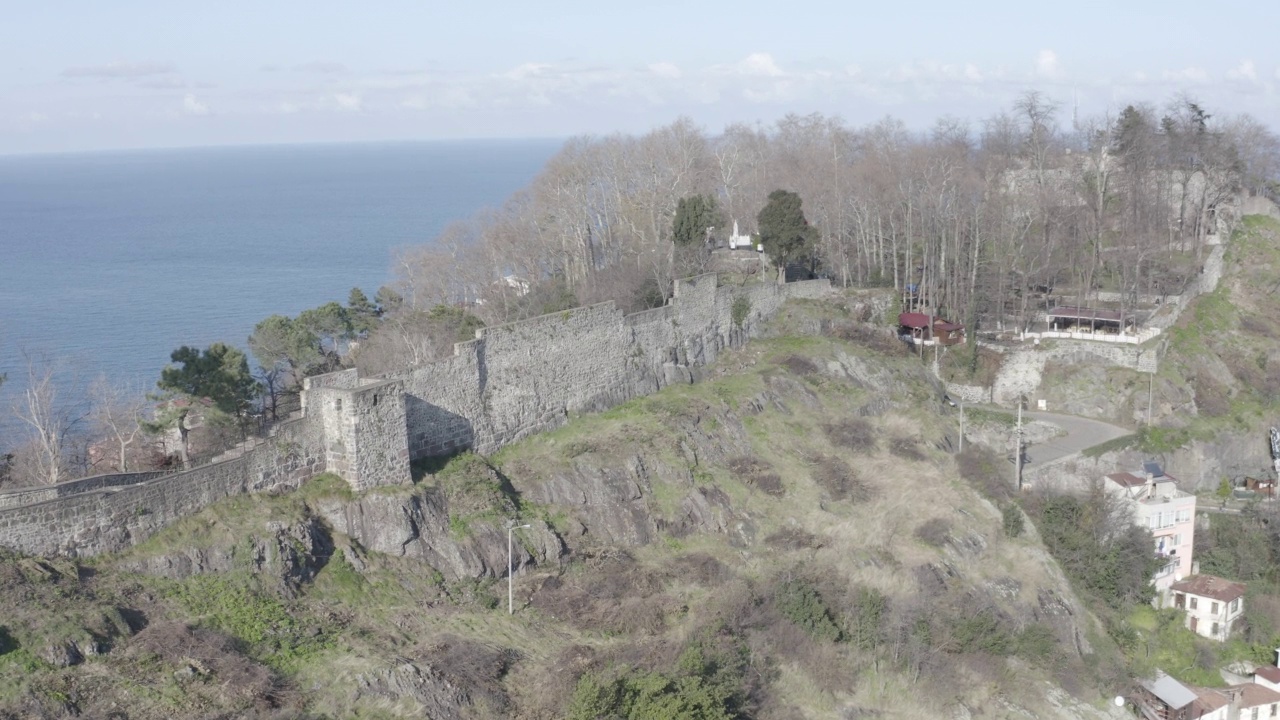
[{"label": "calm blue sea stretching to the horizon behind the trees", "polygon": [[154,388],[169,354],[246,347],[259,320],[352,287],[399,249],[499,206],[553,140],[284,145],[0,156],[0,451],[28,357],[65,404],[99,375]]}]

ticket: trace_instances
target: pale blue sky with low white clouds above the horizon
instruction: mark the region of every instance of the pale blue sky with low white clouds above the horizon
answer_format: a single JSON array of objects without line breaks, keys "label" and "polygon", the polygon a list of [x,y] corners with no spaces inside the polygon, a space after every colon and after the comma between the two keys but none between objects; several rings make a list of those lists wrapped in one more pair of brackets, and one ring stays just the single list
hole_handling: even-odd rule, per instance
[{"label": "pale blue sky with low white clouds above the horizon", "polygon": [[0,0],[0,154],[1069,124],[1178,94],[1280,126],[1277,0]]}]

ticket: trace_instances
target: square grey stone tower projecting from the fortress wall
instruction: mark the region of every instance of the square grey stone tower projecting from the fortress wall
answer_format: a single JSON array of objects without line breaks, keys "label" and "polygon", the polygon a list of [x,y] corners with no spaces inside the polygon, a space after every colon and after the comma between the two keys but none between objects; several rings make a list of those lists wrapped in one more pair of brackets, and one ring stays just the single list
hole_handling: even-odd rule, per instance
[{"label": "square grey stone tower projecting from the fortress wall", "polygon": [[411,482],[402,380],[361,380],[355,370],[307,378],[302,406],[323,424],[325,469],[351,489]]}]

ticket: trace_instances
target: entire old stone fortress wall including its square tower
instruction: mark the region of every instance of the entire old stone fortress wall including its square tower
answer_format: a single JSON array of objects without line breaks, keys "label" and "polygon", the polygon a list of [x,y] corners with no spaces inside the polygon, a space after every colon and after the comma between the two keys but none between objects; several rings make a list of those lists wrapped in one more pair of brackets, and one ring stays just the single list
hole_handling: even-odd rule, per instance
[{"label": "entire old stone fortress wall including its square tower", "polygon": [[[244,455],[173,474],[100,475],[0,493],[0,546],[92,556],[136,544],[219,500],[296,489],[333,471],[356,491],[410,482],[410,461],[492,452],[672,383],[698,379],[726,347],[758,334],[791,297],[827,281],[719,287],[677,281],[671,304],[623,315],[612,302],[483,328],[438,363],[381,378],[307,378],[302,415]],[[749,310],[733,322],[740,299]]]}]

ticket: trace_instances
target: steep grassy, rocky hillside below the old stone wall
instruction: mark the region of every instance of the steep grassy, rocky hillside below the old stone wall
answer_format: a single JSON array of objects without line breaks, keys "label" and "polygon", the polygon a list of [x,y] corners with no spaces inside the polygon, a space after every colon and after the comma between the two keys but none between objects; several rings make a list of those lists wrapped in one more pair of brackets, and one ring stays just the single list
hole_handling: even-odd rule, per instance
[{"label": "steep grassy, rocky hillside below the old stone wall", "polygon": [[413,487],[4,556],[0,717],[1108,716],[1098,621],[960,479],[929,370],[846,314],[796,302],[698,384]]}]

